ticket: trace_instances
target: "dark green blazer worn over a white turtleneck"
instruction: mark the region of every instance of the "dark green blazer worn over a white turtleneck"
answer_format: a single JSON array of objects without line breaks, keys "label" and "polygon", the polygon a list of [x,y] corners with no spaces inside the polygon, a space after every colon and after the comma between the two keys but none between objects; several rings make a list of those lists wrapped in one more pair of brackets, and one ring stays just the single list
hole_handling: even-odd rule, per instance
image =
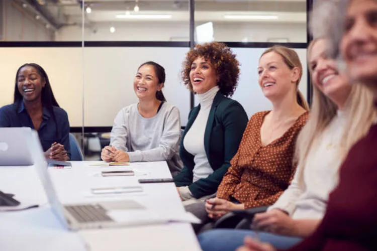
[{"label": "dark green blazer worn over a white turtleneck", "polygon": [[183,169],[174,178],[177,187],[189,186],[195,198],[217,191],[224,174],[230,167],[230,160],[237,153],[248,122],[247,114],[240,103],[225,97],[220,91],[216,94],[204,133],[204,149],[214,172],[207,178],[193,183],[194,155],[184,149],[183,140],[198,116],[199,110],[200,105],[189,113],[189,121],[183,132],[179,149]]}]

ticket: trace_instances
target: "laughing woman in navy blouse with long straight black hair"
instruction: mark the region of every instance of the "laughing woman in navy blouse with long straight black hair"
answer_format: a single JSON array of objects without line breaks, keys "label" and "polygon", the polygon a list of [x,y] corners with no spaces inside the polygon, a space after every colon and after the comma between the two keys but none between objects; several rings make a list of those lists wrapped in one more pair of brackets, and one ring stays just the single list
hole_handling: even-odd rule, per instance
[{"label": "laughing woman in navy blouse with long straight black hair", "polygon": [[46,159],[70,159],[68,115],[38,64],[27,63],[17,70],[14,102],[0,108],[0,127],[32,128],[38,132]]}]

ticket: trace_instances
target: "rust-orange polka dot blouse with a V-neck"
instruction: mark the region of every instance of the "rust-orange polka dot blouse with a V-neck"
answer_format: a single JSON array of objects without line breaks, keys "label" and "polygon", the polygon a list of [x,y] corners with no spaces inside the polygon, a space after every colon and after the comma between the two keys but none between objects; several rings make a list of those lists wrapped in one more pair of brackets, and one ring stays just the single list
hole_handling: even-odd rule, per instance
[{"label": "rust-orange polka dot blouse with a V-neck", "polygon": [[293,156],[297,136],[304,127],[308,112],[297,118],[283,136],[262,146],[260,129],[269,111],[255,113],[249,120],[231,167],[217,190],[217,197],[231,197],[246,208],[271,205],[291,183],[296,166]]}]

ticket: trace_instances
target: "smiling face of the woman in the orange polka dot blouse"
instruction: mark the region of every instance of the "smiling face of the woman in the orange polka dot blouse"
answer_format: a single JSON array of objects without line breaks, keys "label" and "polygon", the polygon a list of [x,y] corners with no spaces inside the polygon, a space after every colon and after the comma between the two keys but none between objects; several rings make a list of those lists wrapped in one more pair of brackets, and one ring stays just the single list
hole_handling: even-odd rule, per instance
[{"label": "smiling face of the woman in the orange polka dot blouse", "polygon": [[296,93],[299,71],[297,67],[291,70],[283,58],[274,51],[264,54],[258,65],[258,82],[264,96],[272,101],[290,92]]}]

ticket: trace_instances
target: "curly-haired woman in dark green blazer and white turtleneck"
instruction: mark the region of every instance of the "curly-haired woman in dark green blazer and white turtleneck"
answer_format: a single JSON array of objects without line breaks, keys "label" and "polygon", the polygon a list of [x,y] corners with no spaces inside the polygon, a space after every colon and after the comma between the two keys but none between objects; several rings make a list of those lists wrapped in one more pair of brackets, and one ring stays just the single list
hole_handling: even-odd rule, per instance
[{"label": "curly-haired woman in dark green blazer and white turtleneck", "polygon": [[174,178],[182,201],[190,204],[216,192],[248,118],[242,105],[228,98],[237,86],[239,62],[226,45],[197,45],[187,53],[181,74],[200,102],[190,111],[180,142],[183,169]]}]

